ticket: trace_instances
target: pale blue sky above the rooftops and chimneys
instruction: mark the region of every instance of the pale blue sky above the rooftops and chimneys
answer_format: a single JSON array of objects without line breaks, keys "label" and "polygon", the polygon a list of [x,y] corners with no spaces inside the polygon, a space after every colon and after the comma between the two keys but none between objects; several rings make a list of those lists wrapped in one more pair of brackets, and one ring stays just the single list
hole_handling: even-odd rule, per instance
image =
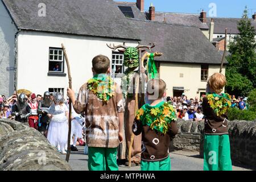
[{"label": "pale blue sky above the rooftops and chimneys", "polygon": [[[136,0],[124,1],[136,2]],[[251,15],[256,12],[255,0],[145,0],[145,10],[148,11],[151,2],[155,6],[156,11],[199,14],[203,9],[204,11],[207,11],[208,17],[241,18],[245,6],[247,6],[247,9],[249,10],[250,18]],[[210,4],[212,6],[209,7]],[[216,9],[214,7],[216,7]]]}]

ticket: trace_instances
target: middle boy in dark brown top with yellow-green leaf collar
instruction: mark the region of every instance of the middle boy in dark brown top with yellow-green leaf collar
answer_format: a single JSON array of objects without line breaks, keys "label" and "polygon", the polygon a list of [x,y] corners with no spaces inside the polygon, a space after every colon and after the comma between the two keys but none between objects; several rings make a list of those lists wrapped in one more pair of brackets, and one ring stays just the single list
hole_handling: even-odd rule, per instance
[{"label": "middle boy in dark brown top with yellow-green leaf collar", "polygon": [[152,79],[147,83],[148,104],[139,109],[133,133],[142,133],[142,171],[170,171],[169,146],[171,138],[177,134],[176,114],[172,105],[163,101],[166,96],[166,83]]}]

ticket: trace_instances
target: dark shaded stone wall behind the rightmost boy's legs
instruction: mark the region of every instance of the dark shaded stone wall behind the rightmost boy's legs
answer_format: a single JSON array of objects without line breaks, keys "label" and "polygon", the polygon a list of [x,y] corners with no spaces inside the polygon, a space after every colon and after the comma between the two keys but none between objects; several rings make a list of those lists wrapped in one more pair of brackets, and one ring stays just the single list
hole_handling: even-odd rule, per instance
[{"label": "dark shaded stone wall behind the rightmost boy's legs", "polygon": [[[256,169],[255,121],[229,121],[229,141],[232,164]],[[204,152],[204,131],[201,130],[200,156]]]}]

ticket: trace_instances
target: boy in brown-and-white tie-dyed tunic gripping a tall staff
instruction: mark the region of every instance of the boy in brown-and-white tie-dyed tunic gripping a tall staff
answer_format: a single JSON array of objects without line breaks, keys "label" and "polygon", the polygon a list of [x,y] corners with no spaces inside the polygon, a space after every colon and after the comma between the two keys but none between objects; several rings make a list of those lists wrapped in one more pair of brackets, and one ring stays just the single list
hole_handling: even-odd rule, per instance
[{"label": "boy in brown-and-white tie-dyed tunic gripping a tall staff", "polygon": [[123,140],[123,97],[121,88],[107,74],[108,57],[92,60],[93,78],[75,93],[68,88],[68,97],[76,113],[85,113],[88,168],[90,171],[117,171],[117,147]]}]

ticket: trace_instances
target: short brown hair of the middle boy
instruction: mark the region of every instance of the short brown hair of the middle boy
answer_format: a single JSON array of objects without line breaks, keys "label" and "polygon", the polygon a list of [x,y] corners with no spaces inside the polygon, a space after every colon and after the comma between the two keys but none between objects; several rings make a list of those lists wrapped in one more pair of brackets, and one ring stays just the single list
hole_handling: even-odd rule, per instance
[{"label": "short brown hair of the middle boy", "polygon": [[161,98],[164,95],[164,92],[166,92],[166,82],[164,82],[162,79],[151,79],[147,82],[147,93],[148,95],[152,96],[155,95],[158,92],[157,98]]}]

